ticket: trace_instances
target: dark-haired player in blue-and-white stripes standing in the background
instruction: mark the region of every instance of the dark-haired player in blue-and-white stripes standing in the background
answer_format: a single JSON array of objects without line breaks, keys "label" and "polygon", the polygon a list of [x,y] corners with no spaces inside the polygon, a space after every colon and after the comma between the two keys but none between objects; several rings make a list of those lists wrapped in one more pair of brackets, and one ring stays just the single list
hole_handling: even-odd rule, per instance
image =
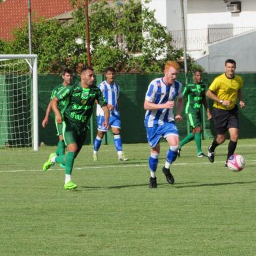
[{"label": "dark-haired player in blue-and-white stripes standing in the background", "polygon": [[[115,83],[115,71],[114,68],[108,67],[105,71],[106,80],[99,84],[99,89],[101,89],[104,98],[108,103],[108,109],[110,110],[109,125],[111,126],[112,132],[114,134],[114,143],[116,147],[116,152],[118,153],[119,161],[127,161],[123,154],[122,141],[121,141],[121,121],[120,112],[118,109],[118,98],[120,93],[120,86]],[[94,140],[94,150],[93,150],[93,161],[98,161],[98,152],[103,140],[104,134],[107,132],[106,127],[102,125],[104,121],[103,109],[99,104],[97,104],[97,123],[98,132],[97,137]]]}]

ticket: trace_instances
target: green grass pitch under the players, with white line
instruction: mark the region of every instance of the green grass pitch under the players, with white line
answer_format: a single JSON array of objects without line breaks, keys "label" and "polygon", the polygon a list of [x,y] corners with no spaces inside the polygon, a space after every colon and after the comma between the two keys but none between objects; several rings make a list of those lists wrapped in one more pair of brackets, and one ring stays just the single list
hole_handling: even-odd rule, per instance
[{"label": "green grass pitch under the players, with white line", "polygon": [[1,150],[1,255],[256,255],[255,139],[238,142],[242,172],[223,167],[227,142],[214,164],[191,142],[172,165],[174,185],[161,172],[163,142],[157,189],[148,188],[148,145],[123,148],[130,161],[107,145],[93,163],[84,146],[75,191],[63,189],[63,168],[41,170],[55,148]]}]

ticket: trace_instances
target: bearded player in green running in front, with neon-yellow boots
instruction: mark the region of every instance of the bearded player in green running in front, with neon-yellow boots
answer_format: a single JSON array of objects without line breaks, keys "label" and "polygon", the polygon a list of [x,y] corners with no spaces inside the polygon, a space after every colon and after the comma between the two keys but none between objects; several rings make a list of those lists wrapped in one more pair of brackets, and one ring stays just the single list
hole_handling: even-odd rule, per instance
[{"label": "bearded player in green running in front, with neon-yellow boots", "polygon": [[[103,108],[103,126],[108,129],[109,110],[101,90],[93,86],[93,68],[89,66],[84,67],[80,78],[80,83],[74,86],[67,86],[59,91],[51,103],[52,110],[56,114],[57,123],[63,123],[63,138],[65,144],[67,144],[67,155],[56,156],[55,153],[51,153],[43,168],[48,170],[54,163],[65,165],[65,189],[75,189],[77,187],[71,180],[72,167],[74,159],[86,140],[87,123],[93,112],[95,101]],[[59,112],[58,103],[65,99],[69,101],[69,104],[63,118],[61,112]]]}]

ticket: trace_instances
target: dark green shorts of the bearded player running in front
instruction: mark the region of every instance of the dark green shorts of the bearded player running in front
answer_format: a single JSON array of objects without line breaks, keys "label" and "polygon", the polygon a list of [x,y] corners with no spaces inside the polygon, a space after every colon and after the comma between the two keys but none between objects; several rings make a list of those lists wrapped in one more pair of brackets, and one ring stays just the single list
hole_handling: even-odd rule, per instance
[{"label": "dark green shorts of the bearded player running in front", "polygon": [[72,127],[68,122],[63,121],[62,135],[66,146],[69,144],[76,144],[78,146],[78,152],[82,148],[86,141],[86,131],[79,132]]}]

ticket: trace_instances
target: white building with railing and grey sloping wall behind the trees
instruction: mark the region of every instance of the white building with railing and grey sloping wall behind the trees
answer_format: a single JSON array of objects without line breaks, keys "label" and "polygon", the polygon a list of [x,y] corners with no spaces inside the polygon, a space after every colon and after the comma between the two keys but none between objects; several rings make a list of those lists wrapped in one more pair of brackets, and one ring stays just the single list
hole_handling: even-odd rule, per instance
[{"label": "white building with railing and grey sloping wall behind the trees", "polygon": [[[152,0],[146,4],[150,10],[155,10],[155,18],[167,27],[177,48],[183,47],[181,1]],[[227,58],[236,59],[237,71],[252,72],[256,62],[253,60],[253,66],[248,69],[248,60],[242,59],[248,52],[256,59],[256,44],[251,42],[255,40],[256,0],[183,1],[188,54],[208,72],[223,71],[222,62]],[[221,61],[216,62],[216,59]]]}]

